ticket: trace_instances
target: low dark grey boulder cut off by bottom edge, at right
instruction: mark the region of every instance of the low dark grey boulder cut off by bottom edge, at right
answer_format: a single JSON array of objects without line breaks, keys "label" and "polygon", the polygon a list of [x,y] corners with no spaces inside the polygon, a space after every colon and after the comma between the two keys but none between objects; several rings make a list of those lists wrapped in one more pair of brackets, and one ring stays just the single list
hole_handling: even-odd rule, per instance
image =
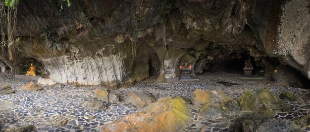
[{"label": "low dark grey boulder cut off by bottom edge, at right", "polygon": [[240,122],[235,132],[301,132],[291,120],[268,118]]}]

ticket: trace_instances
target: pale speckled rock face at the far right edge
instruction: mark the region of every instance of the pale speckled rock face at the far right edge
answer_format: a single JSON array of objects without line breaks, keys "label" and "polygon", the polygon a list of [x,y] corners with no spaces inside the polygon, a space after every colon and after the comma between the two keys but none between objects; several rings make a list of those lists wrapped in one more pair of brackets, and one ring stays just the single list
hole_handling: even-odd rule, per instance
[{"label": "pale speckled rock face at the far right edge", "polygon": [[310,1],[290,0],[282,5],[278,47],[273,54],[310,78]]}]

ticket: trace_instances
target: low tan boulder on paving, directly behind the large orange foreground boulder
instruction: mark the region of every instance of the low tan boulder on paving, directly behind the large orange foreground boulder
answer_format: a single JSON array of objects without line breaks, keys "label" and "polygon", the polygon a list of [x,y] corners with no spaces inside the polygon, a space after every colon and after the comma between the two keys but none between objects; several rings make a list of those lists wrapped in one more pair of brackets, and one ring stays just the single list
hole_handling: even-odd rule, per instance
[{"label": "low tan boulder on paving, directly behind the large orange foreground boulder", "polygon": [[156,101],[154,96],[149,92],[131,92],[126,101],[142,108]]}]

